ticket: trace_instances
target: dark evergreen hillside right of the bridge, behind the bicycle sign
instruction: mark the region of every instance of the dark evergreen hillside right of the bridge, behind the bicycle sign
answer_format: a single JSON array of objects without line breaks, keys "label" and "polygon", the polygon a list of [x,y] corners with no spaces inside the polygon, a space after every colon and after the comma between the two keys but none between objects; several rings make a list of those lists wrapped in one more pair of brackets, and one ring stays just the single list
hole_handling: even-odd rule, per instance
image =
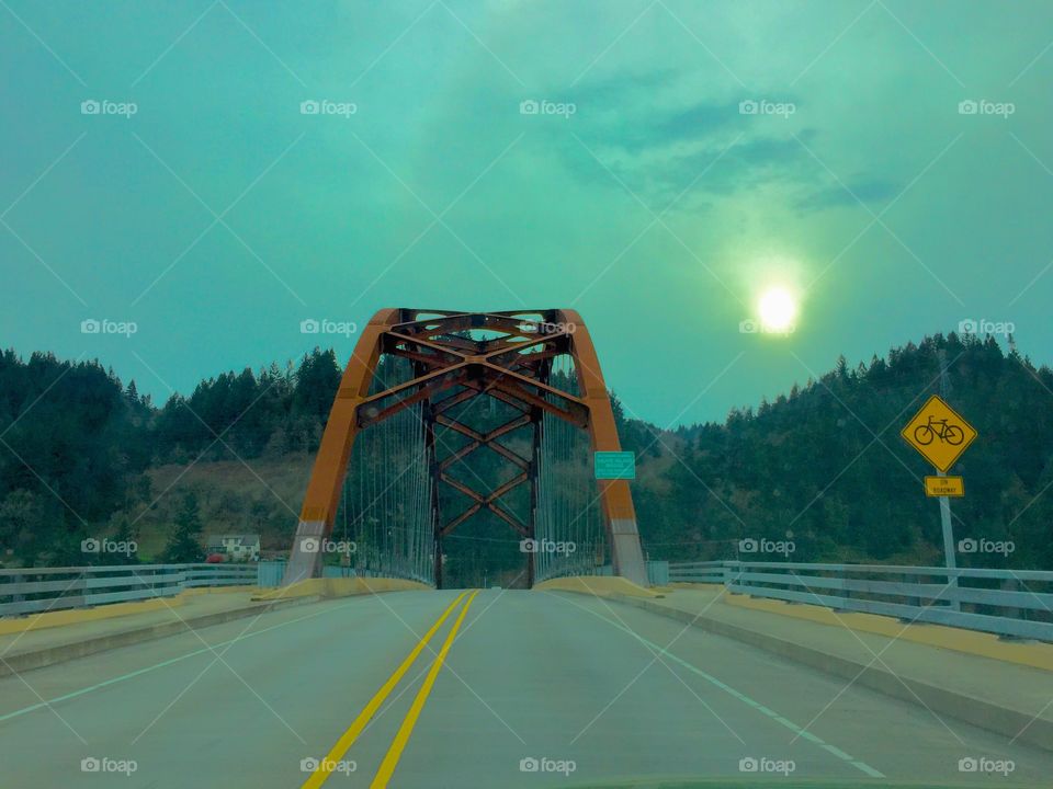
[{"label": "dark evergreen hillside right of the bridge, behind the bicycle sign", "polygon": [[[942,561],[931,467],[899,430],[940,390],[978,431],[954,473],[955,537],[1011,539],[1015,551],[963,564],[1053,567],[1053,374],[994,340],[927,339],[817,381],[723,425],[682,428],[667,494],[636,491],[653,556],[735,558],[738,538],[792,539],[794,560]],[[630,434],[637,449],[649,439]],[[661,444],[675,448],[665,437]]]}]

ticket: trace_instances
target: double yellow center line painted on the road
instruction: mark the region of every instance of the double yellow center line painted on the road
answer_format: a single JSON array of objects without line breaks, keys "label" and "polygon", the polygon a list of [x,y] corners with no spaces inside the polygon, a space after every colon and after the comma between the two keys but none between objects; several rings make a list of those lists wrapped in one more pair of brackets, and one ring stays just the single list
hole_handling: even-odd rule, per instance
[{"label": "double yellow center line painted on the road", "polygon": [[[412,651],[410,651],[408,655],[406,655],[406,660],[401,662],[398,668],[395,670],[395,673],[387,678],[387,682],[385,682],[384,685],[381,686],[381,689],[377,690],[373,698],[370,699],[370,702],[362,709],[362,711],[359,713],[359,717],[354,719],[354,722],[352,722],[348,730],[340,736],[339,740],[337,740],[336,745],[333,745],[329,753],[326,754],[326,757],[319,762],[318,768],[310,774],[310,777],[304,782],[302,789],[316,789],[326,782],[326,779],[330,776],[332,770],[336,769],[337,764],[343,758],[343,755],[350,750],[350,747],[359,739],[359,735],[365,730],[365,727],[376,713],[376,710],[378,710],[381,705],[384,704],[384,699],[386,699],[390,695],[392,690],[395,689],[403,676],[405,676],[406,672],[409,671],[409,667],[416,662],[420,653],[424,651],[428,642],[431,641],[431,638],[439,631],[439,628],[441,628],[442,624],[450,617],[450,614],[453,613],[453,609],[461,604],[461,601],[464,599],[466,594],[467,592],[462,592],[460,595],[457,595],[457,598],[446,607],[446,609],[442,613],[442,616],[435,620],[435,624],[432,625],[428,632],[424,633],[423,638],[420,639],[420,642],[414,647]],[[461,622],[464,621],[464,617],[468,613],[468,608],[472,606],[472,602],[475,599],[477,594],[478,592],[476,591],[468,596],[467,603],[464,604],[464,607],[457,615],[453,627],[450,629],[450,633],[446,636],[445,642],[442,644],[442,649],[439,650],[438,656],[431,664],[428,676],[424,677],[424,682],[420,686],[420,690],[417,691],[417,697],[414,699],[414,704],[410,706],[409,712],[406,713],[406,718],[403,720],[403,724],[399,727],[398,733],[395,735],[395,740],[392,741],[392,746],[384,756],[384,761],[381,763],[381,768],[377,770],[376,776],[373,778],[373,782],[370,785],[371,789],[386,787],[387,781],[390,780],[392,775],[395,773],[395,767],[398,765],[398,759],[403,755],[406,743],[409,742],[409,737],[414,732],[414,727],[417,724],[417,719],[420,717],[420,712],[424,708],[424,702],[428,700],[429,694],[431,694],[431,688],[435,684],[435,678],[439,676],[439,672],[446,659],[446,654],[450,652],[450,648],[453,645],[453,640],[456,638],[457,630],[461,628]]]}]

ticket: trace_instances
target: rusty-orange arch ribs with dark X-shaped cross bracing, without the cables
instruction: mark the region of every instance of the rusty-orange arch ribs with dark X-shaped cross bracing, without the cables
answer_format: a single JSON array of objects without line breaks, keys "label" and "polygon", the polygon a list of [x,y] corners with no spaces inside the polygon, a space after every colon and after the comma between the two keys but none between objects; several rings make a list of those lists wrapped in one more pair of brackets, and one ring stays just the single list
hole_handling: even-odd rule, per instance
[{"label": "rusty-orange arch ribs with dark X-shaped cross bracing, without the cables", "polygon": [[[382,356],[406,359],[409,380],[376,386]],[[553,359],[569,356],[576,391],[552,386]],[[456,405],[489,397],[511,407],[507,423],[482,432],[455,416]],[[419,407],[424,446],[434,485],[433,546],[435,583],[442,582],[442,540],[462,522],[487,510],[505,521],[522,538],[535,536],[537,503],[537,448],[544,419],[556,419],[587,432],[592,451],[621,448],[614,412],[600,370],[599,357],[581,317],[569,309],[457,312],[407,308],[383,309],[364,327],[341,376],[321,443],[304,495],[296,538],[283,584],[316,578],[321,553],[312,550],[329,537],[340,504],[348,464],[355,438],[367,427],[411,407]],[[460,433],[466,443],[440,459],[435,430]],[[498,438],[532,426],[533,456],[523,457]],[[449,466],[487,447],[516,471],[506,482],[479,492],[448,473]],[[439,488],[449,485],[465,495],[467,508],[443,522]],[[502,506],[501,498],[529,485],[530,515],[520,518]],[[596,480],[596,499],[602,513],[607,547],[613,572],[647,585],[632,493],[626,480]],[[534,580],[534,558],[528,553],[529,583]]]}]

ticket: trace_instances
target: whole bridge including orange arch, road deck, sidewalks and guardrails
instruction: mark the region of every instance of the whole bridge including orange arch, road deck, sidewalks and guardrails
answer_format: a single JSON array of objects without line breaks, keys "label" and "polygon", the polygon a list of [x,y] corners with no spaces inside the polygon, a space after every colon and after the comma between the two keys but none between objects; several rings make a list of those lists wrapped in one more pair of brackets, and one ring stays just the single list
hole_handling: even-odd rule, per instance
[{"label": "whole bridge including orange arch, road deck, sidewalks and guardrails", "polygon": [[382,310],[287,561],[0,571],[0,787],[1048,781],[1053,573],[645,561],[621,449],[576,312]]}]

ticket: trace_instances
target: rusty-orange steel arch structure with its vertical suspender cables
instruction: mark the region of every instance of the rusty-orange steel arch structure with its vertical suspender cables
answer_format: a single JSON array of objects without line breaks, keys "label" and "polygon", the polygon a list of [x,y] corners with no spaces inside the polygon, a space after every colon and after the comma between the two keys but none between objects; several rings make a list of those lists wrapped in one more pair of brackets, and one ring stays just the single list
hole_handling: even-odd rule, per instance
[{"label": "rusty-orange steel arch structure with its vertical suspender cables", "polygon": [[[507,419],[489,428],[473,426],[469,403],[487,398],[503,404],[499,408]],[[461,445],[443,447],[440,432],[457,436]],[[367,445],[371,433],[383,441]],[[520,436],[518,448],[499,441],[512,435]],[[575,435],[582,442],[577,450]],[[480,491],[477,476],[474,481],[458,479],[453,467],[484,447],[510,473]],[[443,539],[487,511],[530,540],[521,544],[532,547],[525,550],[528,585],[546,576],[596,573],[607,559],[614,574],[647,585],[629,482],[592,479],[591,453],[618,450],[599,359],[576,311],[383,309],[361,332],[340,380],[283,584],[321,574],[326,549],[319,546],[332,544],[338,513],[347,521],[349,510],[355,510],[348,487],[349,467],[354,467],[350,473],[359,477],[362,502],[354,521],[360,529],[374,529],[367,546],[358,550],[387,554],[384,572],[377,574],[441,586]],[[386,487],[369,479],[382,460],[399,469]],[[589,501],[579,499],[578,512],[562,490],[570,479],[571,461],[588,468],[587,482],[579,476],[577,487],[589,489]],[[398,490],[389,495],[393,485]],[[454,491],[467,505],[456,513],[442,512],[441,489]],[[529,503],[517,513],[507,503],[511,495]],[[376,503],[384,499],[387,503]],[[589,505],[596,511],[596,545],[573,561],[535,552],[537,546],[567,545],[554,538],[582,534],[579,522]]]}]

